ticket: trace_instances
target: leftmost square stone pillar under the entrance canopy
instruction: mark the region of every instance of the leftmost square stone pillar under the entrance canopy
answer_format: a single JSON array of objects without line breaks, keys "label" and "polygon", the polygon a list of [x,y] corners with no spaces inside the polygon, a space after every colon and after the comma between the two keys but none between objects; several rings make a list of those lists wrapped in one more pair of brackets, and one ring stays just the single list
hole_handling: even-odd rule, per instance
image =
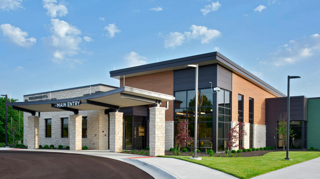
[{"label": "leftmost square stone pillar under the entrance canopy", "polygon": [[39,148],[39,116],[28,116],[28,149]]}]

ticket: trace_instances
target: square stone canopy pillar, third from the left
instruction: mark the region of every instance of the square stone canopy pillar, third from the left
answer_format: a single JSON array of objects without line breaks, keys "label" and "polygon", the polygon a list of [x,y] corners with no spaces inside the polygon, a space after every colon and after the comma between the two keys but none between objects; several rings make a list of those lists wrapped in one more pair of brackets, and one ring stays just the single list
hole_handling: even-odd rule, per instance
[{"label": "square stone canopy pillar, third from the left", "polygon": [[123,113],[109,113],[110,152],[121,152],[123,147]]}]

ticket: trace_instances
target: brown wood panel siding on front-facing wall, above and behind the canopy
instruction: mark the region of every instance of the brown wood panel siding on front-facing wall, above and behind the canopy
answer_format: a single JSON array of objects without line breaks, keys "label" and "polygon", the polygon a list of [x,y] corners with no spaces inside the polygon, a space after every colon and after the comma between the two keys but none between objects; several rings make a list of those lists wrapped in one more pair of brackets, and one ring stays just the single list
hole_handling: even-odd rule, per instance
[{"label": "brown wood panel siding on front-facing wall, above and behind the canopy", "polygon": [[[173,71],[121,78],[120,87],[124,85],[173,96]],[[166,102],[163,102],[161,107],[165,108]],[[173,101],[169,101],[169,109],[165,111],[165,120],[173,120]]]}]

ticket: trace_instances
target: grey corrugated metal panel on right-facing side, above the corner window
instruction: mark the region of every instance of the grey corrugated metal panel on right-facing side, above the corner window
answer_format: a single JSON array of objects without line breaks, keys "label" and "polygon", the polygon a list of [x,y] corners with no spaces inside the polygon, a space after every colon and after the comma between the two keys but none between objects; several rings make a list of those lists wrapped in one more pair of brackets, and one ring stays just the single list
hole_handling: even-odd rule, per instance
[{"label": "grey corrugated metal panel on right-facing side, above the corner window", "polygon": [[218,65],[217,86],[232,91],[232,72]]}]

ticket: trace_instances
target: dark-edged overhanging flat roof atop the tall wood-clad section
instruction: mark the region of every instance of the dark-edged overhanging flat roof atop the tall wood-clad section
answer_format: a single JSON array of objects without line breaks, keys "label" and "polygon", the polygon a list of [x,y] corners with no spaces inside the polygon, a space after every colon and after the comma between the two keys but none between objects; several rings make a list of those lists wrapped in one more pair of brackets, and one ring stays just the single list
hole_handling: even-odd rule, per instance
[{"label": "dark-edged overhanging flat roof atop the tall wood-clad section", "polygon": [[284,93],[281,93],[276,88],[272,87],[265,81],[256,77],[255,75],[245,70],[238,64],[234,63],[227,57],[223,56],[219,52],[210,52],[210,53],[205,53],[205,54],[200,54],[195,56],[188,56],[188,57],[177,58],[173,60],[167,60],[167,61],[162,61],[157,63],[150,63],[150,64],[134,66],[130,68],[124,68],[120,70],[114,70],[114,71],[110,71],[110,77],[120,79],[120,78],[124,78],[124,76],[134,77],[134,76],[158,73],[162,71],[184,69],[185,65],[193,64],[193,63],[197,63],[199,64],[199,66],[218,63],[221,66],[227,68],[228,70],[233,71],[237,74],[240,74],[245,78],[248,78],[253,83],[265,88],[271,93],[274,93],[280,97],[286,96]]}]

